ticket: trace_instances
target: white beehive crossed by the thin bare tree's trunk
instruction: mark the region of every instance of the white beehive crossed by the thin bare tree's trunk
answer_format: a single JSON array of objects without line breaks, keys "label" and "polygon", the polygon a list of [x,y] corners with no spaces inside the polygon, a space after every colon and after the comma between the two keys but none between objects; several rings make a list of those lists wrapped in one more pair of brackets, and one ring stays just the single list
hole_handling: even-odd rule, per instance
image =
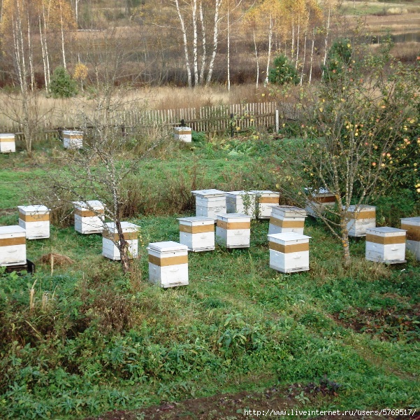
[{"label": "white beehive crossed by the thin bare tree's trunk", "polygon": [[[137,258],[138,254],[138,225],[121,222],[124,240],[128,244],[129,258]],[[121,260],[120,250],[116,243],[120,241],[117,226],[114,222],[106,223],[102,232],[102,255],[110,260]]]}]

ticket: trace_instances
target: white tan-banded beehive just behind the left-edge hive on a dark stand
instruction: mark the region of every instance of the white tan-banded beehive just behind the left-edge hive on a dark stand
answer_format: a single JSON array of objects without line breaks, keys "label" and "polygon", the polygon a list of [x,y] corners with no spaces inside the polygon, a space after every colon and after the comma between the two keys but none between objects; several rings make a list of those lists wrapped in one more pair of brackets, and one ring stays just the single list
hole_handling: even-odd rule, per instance
[{"label": "white tan-banded beehive just behind the left-edge hive on a dark stand", "polygon": [[50,237],[50,209],[45,206],[18,206],[19,225],[27,232],[27,239]]}]

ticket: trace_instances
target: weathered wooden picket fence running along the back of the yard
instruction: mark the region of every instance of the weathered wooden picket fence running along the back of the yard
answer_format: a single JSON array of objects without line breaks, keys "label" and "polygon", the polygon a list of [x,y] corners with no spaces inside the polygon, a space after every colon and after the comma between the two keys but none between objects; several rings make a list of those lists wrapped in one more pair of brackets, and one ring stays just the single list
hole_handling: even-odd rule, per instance
[{"label": "weathered wooden picket fence running along the back of the yard", "polygon": [[[97,117],[96,117],[97,118]],[[165,110],[124,110],[107,116],[108,125],[120,127],[122,134],[149,132],[157,128],[171,130],[182,123],[197,132],[228,132],[246,130],[249,127],[275,129],[291,120],[300,118],[300,110],[295,104],[260,102],[254,104],[230,104]],[[101,120],[101,116],[99,116]],[[58,139],[60,130],[82,130],[85,125],[73,116],[66,116],[64,127],[41,129],[45,139]],[[89,127],[93,129],[94,127]],[[22,140],[19,127],[2,127],[0,132],[15,132]]]}]

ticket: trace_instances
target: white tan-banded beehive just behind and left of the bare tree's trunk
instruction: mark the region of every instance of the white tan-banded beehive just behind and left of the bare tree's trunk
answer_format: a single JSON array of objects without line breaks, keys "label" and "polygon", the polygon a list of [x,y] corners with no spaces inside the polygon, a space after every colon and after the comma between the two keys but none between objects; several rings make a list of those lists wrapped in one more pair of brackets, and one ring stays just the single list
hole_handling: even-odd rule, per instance
[{"label": "white tan-banded beehive just behind and left of the bare tree's trunk", "polygon": [[105,208],[98,200],[87,202],[73,202],[74,204],[74,229],[83,235],[101,233],[105,220]]}]

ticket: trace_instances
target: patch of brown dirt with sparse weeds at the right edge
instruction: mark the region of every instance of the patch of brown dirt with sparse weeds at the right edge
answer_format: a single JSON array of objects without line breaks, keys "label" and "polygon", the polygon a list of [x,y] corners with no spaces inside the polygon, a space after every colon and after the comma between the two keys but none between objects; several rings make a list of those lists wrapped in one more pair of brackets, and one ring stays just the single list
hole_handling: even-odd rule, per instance
[{"label": "patch of brown dirt with sparse weeds at the right edge", "polygon": [[420,341],[420,304],[401,304],[382,309],[352,308],[334,314],[346,328],[383,341]]}]

